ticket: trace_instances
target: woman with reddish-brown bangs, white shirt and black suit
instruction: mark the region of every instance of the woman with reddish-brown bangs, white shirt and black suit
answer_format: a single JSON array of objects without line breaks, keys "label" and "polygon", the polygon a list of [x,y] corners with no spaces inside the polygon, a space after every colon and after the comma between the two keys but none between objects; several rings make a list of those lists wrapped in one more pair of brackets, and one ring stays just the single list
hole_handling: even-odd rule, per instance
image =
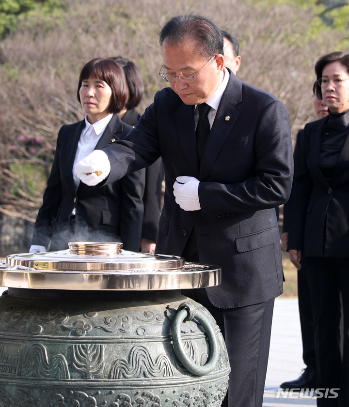
[{"label": "woman with reddish-brown bangs, white shirt and black suit", "polygon": [[[143,222],[144,169],[103,187],[79,181],[75,164],[91,151],[127,135],[117,113],[128,98],[126,77],[113,60],[94,59],[81,70],[77,92],[86,116],[58,134],[31,253],[68,248],[69,241],[122,241],[138,251]],[[91,172],[95,170],[91,168]]]}]

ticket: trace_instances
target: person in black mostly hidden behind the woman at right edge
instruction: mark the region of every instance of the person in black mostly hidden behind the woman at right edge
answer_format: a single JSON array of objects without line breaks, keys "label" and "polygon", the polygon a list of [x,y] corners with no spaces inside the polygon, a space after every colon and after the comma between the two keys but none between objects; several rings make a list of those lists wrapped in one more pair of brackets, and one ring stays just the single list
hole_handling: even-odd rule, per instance
[{"label": "person in black mostly hidden behind the woman at right edge", "polygon": [[[317,95],[317,82],[313,85],[313,104],[315,114],[318,119],[322,119],[328,115],[328,107],[325,102]],[[293,154],[294,160],[297,160],[300,139],[304,136],[304,129],[301,129],[297,134],[295,151]],[[283,233],[281,235],[281,247],[287,249],[288,228],[289,228],[289,211],[291,208],[291,198],[284,205],[284,222]],[[301,261],[301,269],[297,270],[297,290],[298,290],[298,306],[301,321],[301,336],[303,345],[303,361],[305,369],[301,376],[295,380],[281,383],[282,389],[312,389],[316,386],[316,356],[314,344],[314,321],[313,311],[310,301],[310,281],[307,269],[304,262]]]}]

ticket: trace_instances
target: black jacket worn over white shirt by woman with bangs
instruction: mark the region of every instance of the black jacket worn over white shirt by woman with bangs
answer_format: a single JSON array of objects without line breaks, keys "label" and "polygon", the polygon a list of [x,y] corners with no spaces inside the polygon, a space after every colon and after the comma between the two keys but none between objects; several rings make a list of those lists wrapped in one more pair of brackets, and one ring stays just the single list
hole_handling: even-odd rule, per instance
[{"label": "black jacket worn over white shirt by woman with bangs", "polygon": [[[76,189],[73,163],[85,121],[64,125],[58,134],[57,147],[43,204],[38,212],[32,244],[51,250],[67,248],[70,239],[94,241],[116,240],[124,249],[139,251],[143,221],[145,171],[139,170],[102,188],[80,182]],[[131,126],[114,114],[100,137],[96,149],[111,140],[127,135]],[[78,234],[71,233],[71,214],[76,210]]]}]

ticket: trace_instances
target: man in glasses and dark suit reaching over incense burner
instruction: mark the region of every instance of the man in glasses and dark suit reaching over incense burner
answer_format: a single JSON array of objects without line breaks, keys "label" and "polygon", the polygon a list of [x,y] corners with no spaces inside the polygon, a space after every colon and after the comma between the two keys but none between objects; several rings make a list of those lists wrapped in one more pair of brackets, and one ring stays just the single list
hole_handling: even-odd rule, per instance
[{"label": "man in glasses and dark suit reaching over incense burner", "polygon": [[[224,68],[222,33],[212,21],[173,17],[159,40],[160,75],[170,87],[157,92],[127,137],[103,149],[108,160],[93,165],[92,154],[76,169],[88,184],[111,182],[162,157],[156,251],[222,267],[220,286],[192,296],[224,334],[232,371],[223,405],[261,407],[274,298],[283,291],[275,206],[288,199],[292,183],[288,113]],[[208,117],[199,120],[204,103]],[[206,119],[205,144],[195,127]],[[87,175],[97,168],[98,179]]]}]

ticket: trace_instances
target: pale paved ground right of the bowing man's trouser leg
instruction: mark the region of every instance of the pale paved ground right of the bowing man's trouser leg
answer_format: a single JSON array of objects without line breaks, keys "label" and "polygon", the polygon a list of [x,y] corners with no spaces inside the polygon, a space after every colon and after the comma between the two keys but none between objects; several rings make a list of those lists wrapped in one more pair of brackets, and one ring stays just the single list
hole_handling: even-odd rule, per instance
[{"label": "pale paved ground right of the bowing man's trouser leg", "polygon": [[279,389],[280,383],[299,377],[304,367],[298,300],[277,298],[271,327],[263,407],[316,406],[314,397],[307,394],[301,394],[303,397],[295,397],[297,394],[286,397]]}]

